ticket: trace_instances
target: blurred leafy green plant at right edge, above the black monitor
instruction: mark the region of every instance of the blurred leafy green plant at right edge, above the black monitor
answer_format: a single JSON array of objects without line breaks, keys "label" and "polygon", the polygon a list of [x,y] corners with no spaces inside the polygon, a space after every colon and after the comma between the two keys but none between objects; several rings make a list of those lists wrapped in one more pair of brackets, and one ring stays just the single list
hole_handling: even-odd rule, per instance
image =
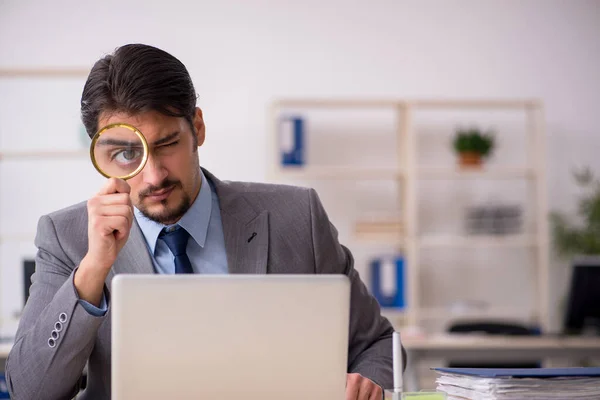
[{"label": "blurred leafy green plant at right edge, above the black monitor", "polygon": [[562,257],[600,256],[600,181],[589,168],[573,174],[577,184],[586,191],[579,200],[578,224],[570,223],[558,212],[550,214],[554,247]]}]

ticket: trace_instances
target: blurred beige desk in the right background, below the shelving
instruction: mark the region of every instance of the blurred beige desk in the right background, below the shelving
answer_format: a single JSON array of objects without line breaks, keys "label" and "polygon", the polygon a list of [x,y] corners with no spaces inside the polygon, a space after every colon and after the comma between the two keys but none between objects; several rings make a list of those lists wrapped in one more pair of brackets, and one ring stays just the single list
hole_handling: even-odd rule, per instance
[{"label": "blurred beige desk in the right background, below the shelving", "polygon": [[[406,390],[418,390],[420,362],[426,359],[457,361],[531,361],[576,362],[583,358],[600,359],[600,337],[496,336],[481,334],[439,334],[402,338],[408,355]],[[431,365],[439,367],[440,365]],[[431,388],[427,388],[431,389]]]}]

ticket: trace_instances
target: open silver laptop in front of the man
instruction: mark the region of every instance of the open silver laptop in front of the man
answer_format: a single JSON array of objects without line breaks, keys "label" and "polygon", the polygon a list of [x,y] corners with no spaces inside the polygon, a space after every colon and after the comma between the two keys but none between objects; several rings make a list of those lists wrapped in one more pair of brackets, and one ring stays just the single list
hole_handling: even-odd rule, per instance
[{"label": "open silver laptop in front of the man", "polygon": [[112,399],[345,398],[344,275],[117,275]]}]

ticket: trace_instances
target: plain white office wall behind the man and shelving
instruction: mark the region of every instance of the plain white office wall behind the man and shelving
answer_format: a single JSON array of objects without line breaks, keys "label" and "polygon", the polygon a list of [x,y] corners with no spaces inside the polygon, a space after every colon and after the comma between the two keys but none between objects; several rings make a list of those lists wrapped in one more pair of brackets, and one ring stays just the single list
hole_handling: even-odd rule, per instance
[{"label": "plain white office wall behind the man and shelving", "polygon": [[[570,167],[600,171],[597,0],[0,2],[0,67],[89,68],[129,42],[162,47],[188,66],[208,128],[201,163],[223,178],[265,179],[266,107],[280,96],[539,97],[546,105],[550,206],[573,206]],[[54,92],[9,88],[0,84],[0,115],[11,104],[28,104],[21,113],[34,132],[15,139],[0,122],[0,146],[37,146],[53,123],[47,107]],[[36,107],[36,94],[45,106]],[[77,111],[76,87],[55,94]],[[61,117],[70,124],[64,136],[53,133],[66,148],[80,145],[72,111]],[[20,220],[19,232],[34,232],[41,212],[84,200],[99,182],[83,161],[50,170],[28,163],[22,177],[22,167],[1,169],[3,232]],[[39,165],[43,172],[35,172]],[[36,180],[44,192],[28,200],[27,183]],[[5,318],[18,308],[13,261],[23,246],[0,248]],[[558,271],[563,288],[564,269]]]}]

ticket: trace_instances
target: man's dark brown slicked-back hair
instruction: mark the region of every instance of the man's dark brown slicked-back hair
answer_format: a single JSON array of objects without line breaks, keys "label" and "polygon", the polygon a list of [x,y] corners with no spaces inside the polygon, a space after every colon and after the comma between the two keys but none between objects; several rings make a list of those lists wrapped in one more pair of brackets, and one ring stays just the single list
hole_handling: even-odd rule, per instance
[{"label": "man's dark brown slicked-back hair", "polygon": [[81,120],[93,137],[103,112],[158,111],[185,118],[193,132],[196,98],[181,61],[156,47],[128,44],[92,67],[81,95]]}]

